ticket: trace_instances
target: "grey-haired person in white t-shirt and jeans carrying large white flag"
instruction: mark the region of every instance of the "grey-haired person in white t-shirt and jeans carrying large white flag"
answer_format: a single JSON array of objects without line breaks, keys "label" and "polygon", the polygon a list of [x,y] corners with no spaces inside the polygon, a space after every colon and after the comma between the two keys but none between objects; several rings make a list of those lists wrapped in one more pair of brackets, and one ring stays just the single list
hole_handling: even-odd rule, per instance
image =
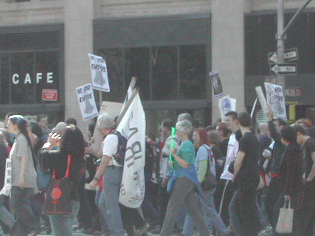
[{"label": "grey-haired person in white t-shirt and jeans carrying large white flag", "polygon": [[[123,177],[123,166],[118,164],[114,158],[117,152],[118,136],[112,134],[115,121],[108,113],[100,115],[97,119],[98,129],[106,138],[103,141],[102,160],[90,185],[95,187],[97,181],[103,175],[103,192],[104,207],[102,211],[106,223],[112,236],[123,236],[122,216],[119,207],[119,191]],[[106,171],[105,171],[106,170]]]}]

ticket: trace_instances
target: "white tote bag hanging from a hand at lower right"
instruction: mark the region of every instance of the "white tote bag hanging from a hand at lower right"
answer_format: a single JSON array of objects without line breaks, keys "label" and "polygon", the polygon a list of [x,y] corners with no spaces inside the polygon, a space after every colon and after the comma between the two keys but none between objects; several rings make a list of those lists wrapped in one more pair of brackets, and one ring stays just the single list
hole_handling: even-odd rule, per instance
[{"label": "white tote bag hanging from a hand at lower right", "polygon": [[289,207],[286,208],[286,201],[284,207],[280,208],[278,222],[276,226],[276,232],[278,234],[291,234],[293,229],[293,213],[294,209],[291,209],[291,200],[289,200]]}]

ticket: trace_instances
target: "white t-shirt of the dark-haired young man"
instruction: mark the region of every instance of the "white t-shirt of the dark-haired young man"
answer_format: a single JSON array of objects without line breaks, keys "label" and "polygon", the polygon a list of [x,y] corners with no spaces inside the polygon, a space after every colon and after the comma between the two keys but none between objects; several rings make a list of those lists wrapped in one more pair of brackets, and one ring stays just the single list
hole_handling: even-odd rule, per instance
[{"label": "white t-shirt of the dark-haired young man", "polygon": [[227,151],[226,151],[226,159],[225,165],[223,169],[223,173],[221,174],[222,179],[233,180],[233,174],[228,171],[228,167],[232,161],[235,160],[238,152],[238,142],[235,138],[235,134],[230,136],[227,144]]}]

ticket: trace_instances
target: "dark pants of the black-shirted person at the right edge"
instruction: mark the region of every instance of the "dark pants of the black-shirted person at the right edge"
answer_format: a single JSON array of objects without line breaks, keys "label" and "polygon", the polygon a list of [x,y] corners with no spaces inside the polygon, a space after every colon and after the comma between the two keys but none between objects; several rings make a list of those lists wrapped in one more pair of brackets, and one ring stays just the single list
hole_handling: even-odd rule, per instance
[{"label": "dark pants of the black-shirted person at the right edge", "polygon": [[298,226],[301,236],[313,235],[315,214],[315,181],[307,181],[302,195],[302,202],[297,211]]}]

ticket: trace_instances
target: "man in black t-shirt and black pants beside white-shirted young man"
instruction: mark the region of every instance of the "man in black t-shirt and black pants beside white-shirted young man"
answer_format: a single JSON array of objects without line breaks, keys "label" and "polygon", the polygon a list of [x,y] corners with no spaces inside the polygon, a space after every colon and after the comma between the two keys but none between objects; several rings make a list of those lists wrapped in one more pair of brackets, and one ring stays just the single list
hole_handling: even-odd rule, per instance
[{"label": "man in black t-shirt and black pants beside white-shirted young man", "polygon": [[239,151],[234,162],[233,179],[237,185],[236,194],[243,235],[254,236],[260,228],[254,202],[254,194],[259,183],[259,143],[250,129],[250,115],[242,112],[237,120],[243,136],[239,141]]}]

